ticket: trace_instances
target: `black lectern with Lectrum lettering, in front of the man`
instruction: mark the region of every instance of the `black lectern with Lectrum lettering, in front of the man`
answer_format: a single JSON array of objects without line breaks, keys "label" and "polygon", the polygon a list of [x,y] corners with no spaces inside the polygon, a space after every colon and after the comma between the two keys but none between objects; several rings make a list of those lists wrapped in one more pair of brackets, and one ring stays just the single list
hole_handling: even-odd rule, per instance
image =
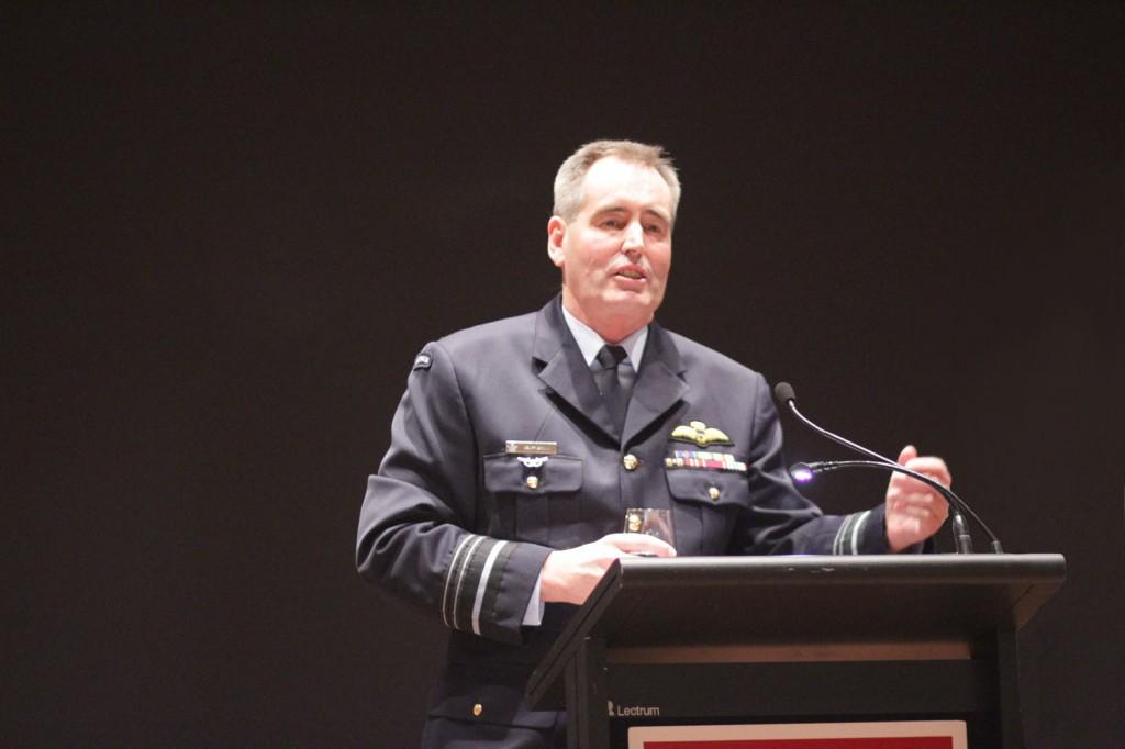
[{"label": "black lectern with Lectrum lettering, in front of the man", "polygon": [[609,749],[611,716],[971,715],[972,746],[1022,747],[1016,632],[1064,576],[1060,554],[624,559],[529,702],[565,705],[582,749]]}]

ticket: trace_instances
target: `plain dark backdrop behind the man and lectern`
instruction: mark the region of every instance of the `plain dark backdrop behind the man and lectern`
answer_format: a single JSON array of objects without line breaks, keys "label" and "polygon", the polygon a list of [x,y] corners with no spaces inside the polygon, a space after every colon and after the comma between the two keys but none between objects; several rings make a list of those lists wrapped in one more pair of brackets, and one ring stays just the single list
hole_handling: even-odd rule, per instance
[{"label": "plain dark backdrop behind the man and lectern", "polygon": [[0,11],[4,743],[413,746],[442,631],[354,572],[366,476],[631,137],[684,182],[665,326],[1064,553],[1027,724],[1125,746],[1125,6],[181,4]]}]

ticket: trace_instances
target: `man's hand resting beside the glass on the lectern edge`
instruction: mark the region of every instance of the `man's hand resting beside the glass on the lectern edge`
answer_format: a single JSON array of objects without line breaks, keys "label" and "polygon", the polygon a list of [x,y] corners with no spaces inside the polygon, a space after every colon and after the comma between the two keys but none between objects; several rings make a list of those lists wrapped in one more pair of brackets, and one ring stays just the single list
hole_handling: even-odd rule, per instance
[{"label": "man's hand resting beside the glass on the lectern edge", "polygon": [[547,603],[582,604],[614,559],[633,553],[675,557],[667,542],[642,533],[611,533],[574,549],[552,551],[543,562],[540,595]]}]

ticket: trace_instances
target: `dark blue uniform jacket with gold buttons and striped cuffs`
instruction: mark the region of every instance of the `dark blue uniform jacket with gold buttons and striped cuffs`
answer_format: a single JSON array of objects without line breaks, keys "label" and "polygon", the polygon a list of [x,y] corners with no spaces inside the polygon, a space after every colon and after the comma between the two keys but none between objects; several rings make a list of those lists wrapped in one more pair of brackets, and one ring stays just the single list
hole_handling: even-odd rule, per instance
[{"label": "dark blue uniform jacket with gold buttons and striped cuffs", "polygon": [[[672,436],[692,422],[730,444]],[[529,467],[505,452],[510,440],[558,452]],[[723,461],[736,469],[680,467],[685,451],[731,453]],[[573,607],[549,604],[541,626],[521,622],[548,553],[620,532],[628,507],[672,508],[681,556],[886,550],[882,507],[826,516],[794,489],[770,388],[731,359],[652,323],[618,434],[558,297],[460,331],[414,363],[357,544],[367,579],[451,630],[431,720],[496,734],[556,724],[528,710],[523,688]]]}]

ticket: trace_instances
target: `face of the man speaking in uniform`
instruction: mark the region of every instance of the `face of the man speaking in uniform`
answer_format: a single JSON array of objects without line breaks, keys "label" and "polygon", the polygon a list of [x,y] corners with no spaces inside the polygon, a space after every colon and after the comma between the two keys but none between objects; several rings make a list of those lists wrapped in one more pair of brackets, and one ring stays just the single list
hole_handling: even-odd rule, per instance
[{"label": "face of the man speaking in uniform", "polygon": [[615,343],[652,319],[672,268],[672,191],[659,172],[614,157],[594,163],[572,222],[552,216],[547,251],[562,269],[562,304]]}]

